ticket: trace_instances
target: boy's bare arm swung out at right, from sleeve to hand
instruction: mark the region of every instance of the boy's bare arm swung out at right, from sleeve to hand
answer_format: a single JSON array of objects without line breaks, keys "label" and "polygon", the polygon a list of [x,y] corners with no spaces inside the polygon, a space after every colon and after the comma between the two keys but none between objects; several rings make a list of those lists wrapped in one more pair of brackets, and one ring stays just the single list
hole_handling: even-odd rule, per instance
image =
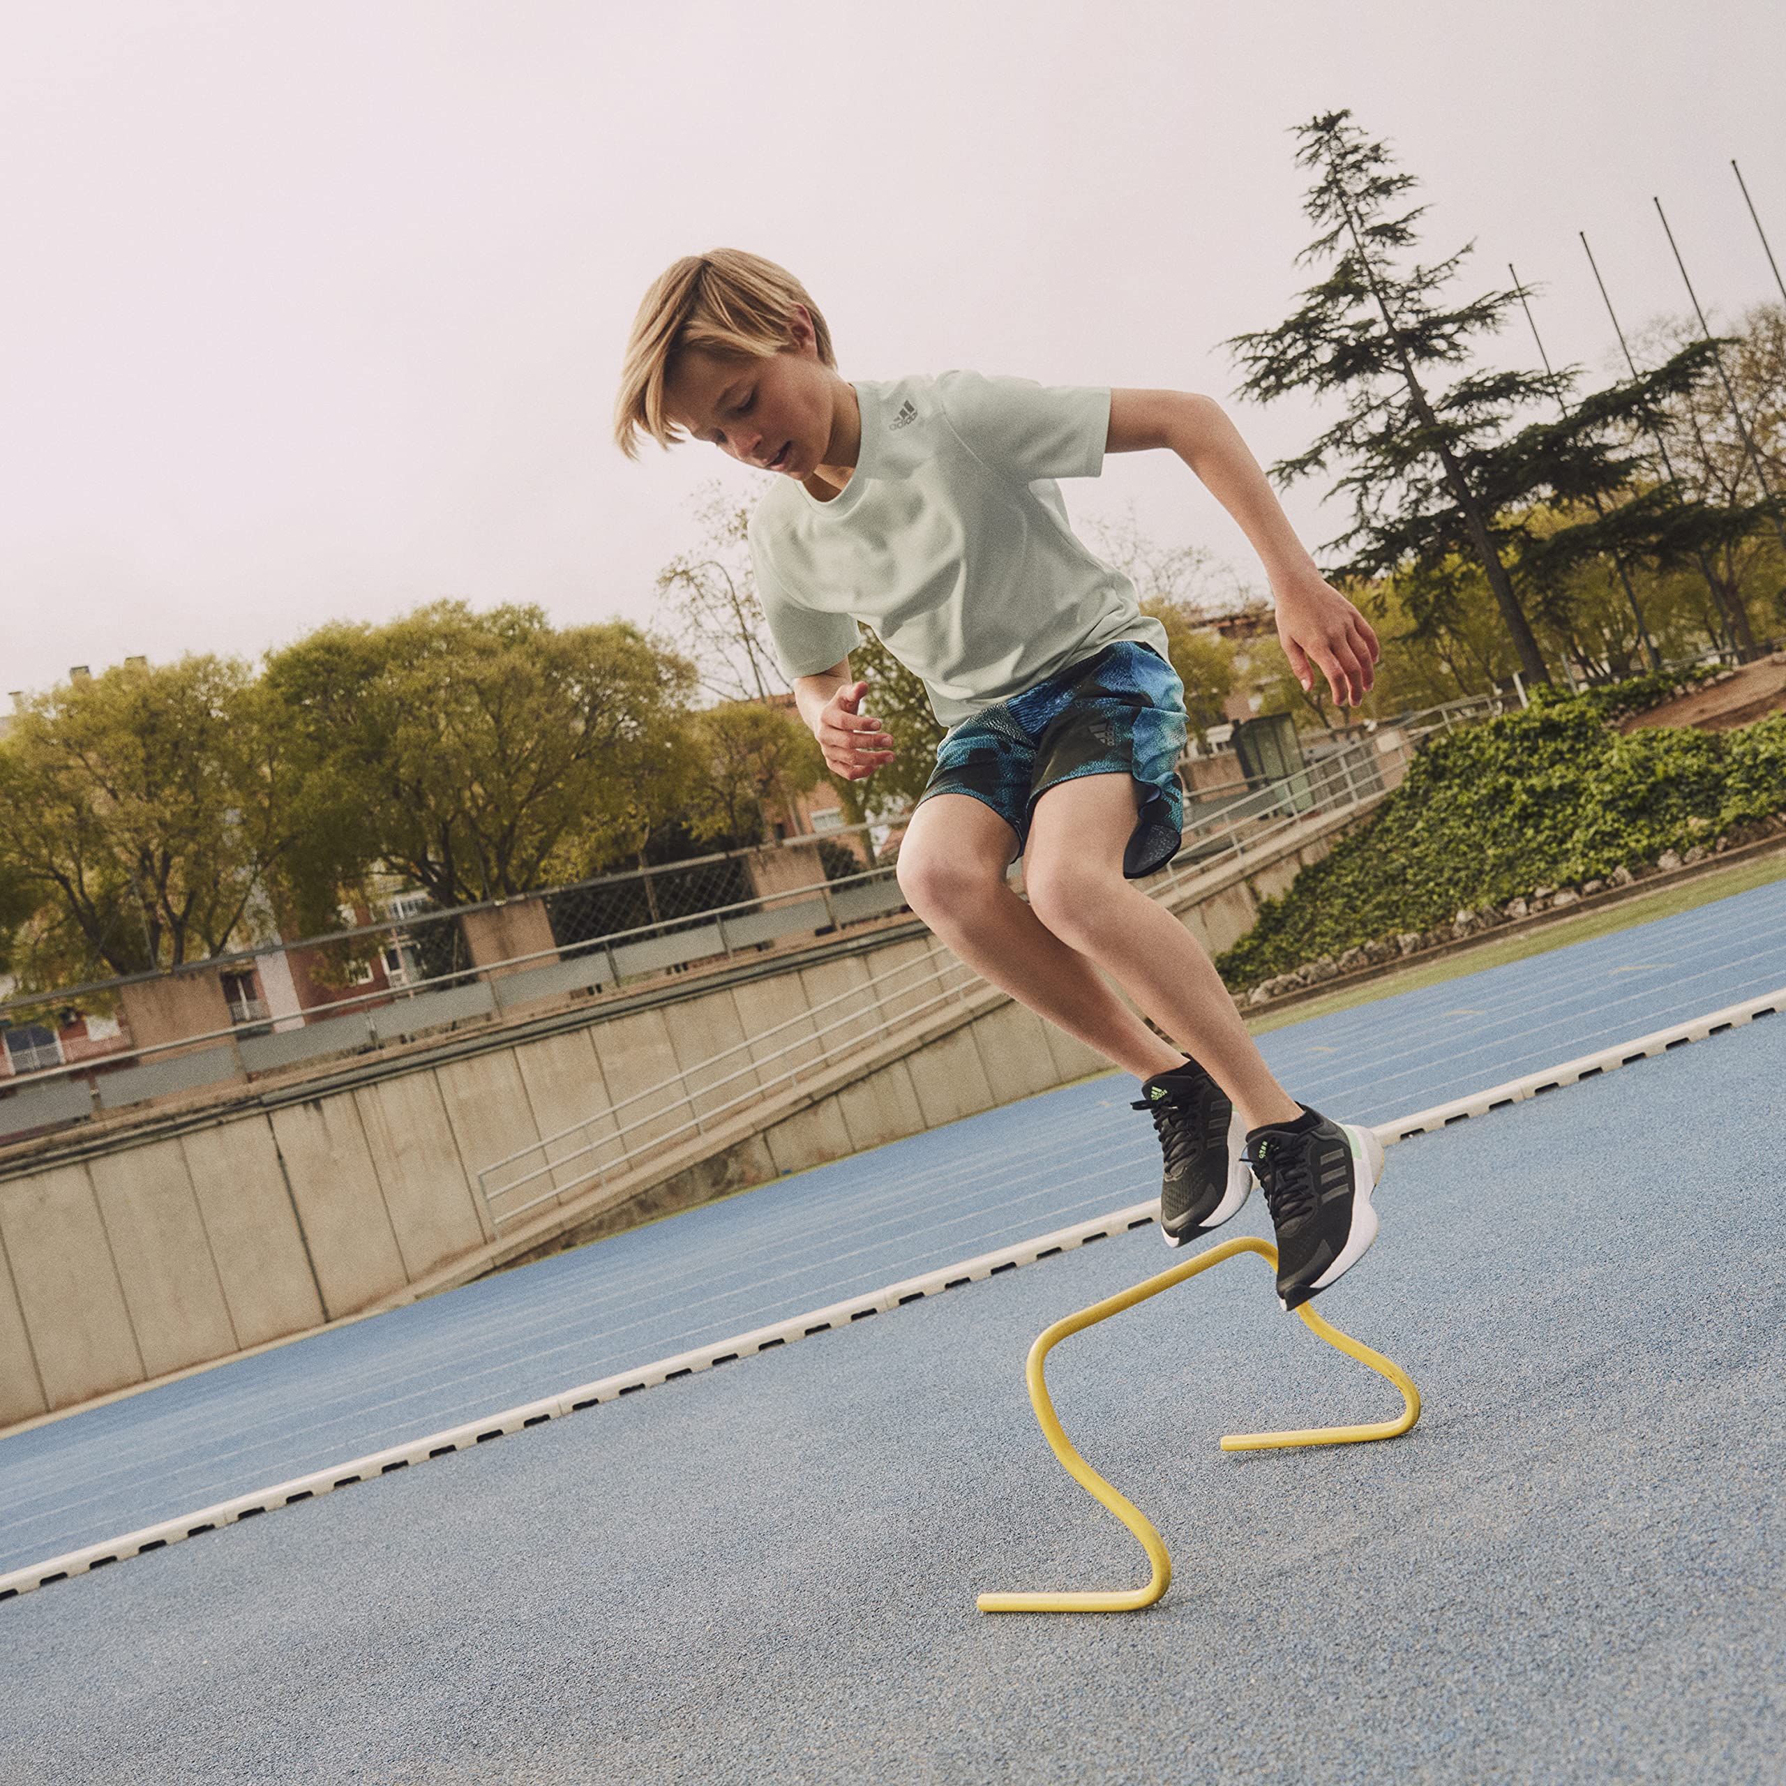
[{"label": "boy's bare arm swung out at right, from sleeve to hand", "polygon": [[1297,680],[1313,663],[1334,698],[1356,707],[1375,679],[1377,634],[1314,568],[1289,518],[1222,405],[1191,391],[1111,391],[1106,452],[1170,446],[1252,541],[1277,604],[1277,636]]}]

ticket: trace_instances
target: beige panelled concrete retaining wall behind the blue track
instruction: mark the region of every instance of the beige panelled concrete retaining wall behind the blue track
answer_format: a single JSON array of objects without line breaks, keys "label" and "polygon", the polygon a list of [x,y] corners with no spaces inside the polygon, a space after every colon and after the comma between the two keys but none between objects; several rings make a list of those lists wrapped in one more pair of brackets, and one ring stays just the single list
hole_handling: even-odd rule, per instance
[{"label": "beige panelled concrete retaining wall behind the blue track", "polygon": [[[1338,834],[1202,877],[1177,900],[1181,920],[1213,952],[1227,948],[1252,925],[1259,900],[1282,891]],[[691,1106],[661,1116],[645,1138],[688,1139],[677,1131],[691,1116],[723,1122],[727,1106],[745,1098],[736,1118],[788,1064],[816,1054],[823,1006],[838,993],[879,984],[889,1014],[913,1014],[929,995],[914,982],[934,947],[929,936],[902,936],[620,1016],[591,1011],[582,1027],[493,1038],[493,1047],[450,1059],[393,1061],[313,1098],[236,1107],[184,1132],[125,1131],[105,1152],[0,1181],[0,1427],[304,1332],[398,1297],[452,1261],[473,1261],[475,1275],[495,1239],[477,1191],[480,1168],[722,1050],[734,1054],[693,1081]],[[566,1227],[552,1245],[1106,1066],[1006,1002]],[[566,1157],[586,1139],[547,1148],[550,1170],[534,1188],[547,1198],[541,1207],[586,1172],[588,1157]]]}]

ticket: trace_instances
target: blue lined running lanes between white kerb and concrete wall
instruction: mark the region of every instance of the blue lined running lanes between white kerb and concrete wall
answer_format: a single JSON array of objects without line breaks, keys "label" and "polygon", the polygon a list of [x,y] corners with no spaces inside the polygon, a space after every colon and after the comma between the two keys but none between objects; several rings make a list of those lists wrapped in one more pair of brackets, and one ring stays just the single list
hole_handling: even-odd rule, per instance
[{"label": "blue lined running lanes between white kerb and concrete wall", "polygon": [[[1304,1102],[1388,1122],[1781,986],[1786,880],[1261,1047]],[[1068,1086],[14,1434],[0,1573],[1141,1202],[1132,1095]]]}]

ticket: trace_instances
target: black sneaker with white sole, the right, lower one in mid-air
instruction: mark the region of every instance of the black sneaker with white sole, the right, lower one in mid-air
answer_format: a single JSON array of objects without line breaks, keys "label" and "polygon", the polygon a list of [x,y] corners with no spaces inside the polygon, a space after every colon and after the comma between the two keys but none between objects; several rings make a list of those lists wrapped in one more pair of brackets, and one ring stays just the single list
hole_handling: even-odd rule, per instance
[{"label": "black sneaker with white sole, the right, lower one in mid-air", "polygon": [[1377,1238],[1370,1193],[1382,1177],[1382,1143],[1368,1129],[1329,1122],[1307,1104],[1302,1113],[1297,1123],[1247,1136],[1277,1229],[1277,1300],[1286,1309],[1325,1289],[1370,1250]]}]

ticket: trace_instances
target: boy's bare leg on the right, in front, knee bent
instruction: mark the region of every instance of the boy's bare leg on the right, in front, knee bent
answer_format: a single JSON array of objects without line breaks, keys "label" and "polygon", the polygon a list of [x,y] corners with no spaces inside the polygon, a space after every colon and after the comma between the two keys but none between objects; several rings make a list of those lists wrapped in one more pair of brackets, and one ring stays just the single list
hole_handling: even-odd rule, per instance
[{"label": "boy's bare leg on the right, in front, knee bent", "polygon": [[1081,775],[1036,802],[1023,861],[1031,913],[1182,1041],[1248,1129],[1291,1122],[1302,1111],[1272,1077],[1214,963],[1170,911],[1122,877],[1138,800],[1132,775]]}]

